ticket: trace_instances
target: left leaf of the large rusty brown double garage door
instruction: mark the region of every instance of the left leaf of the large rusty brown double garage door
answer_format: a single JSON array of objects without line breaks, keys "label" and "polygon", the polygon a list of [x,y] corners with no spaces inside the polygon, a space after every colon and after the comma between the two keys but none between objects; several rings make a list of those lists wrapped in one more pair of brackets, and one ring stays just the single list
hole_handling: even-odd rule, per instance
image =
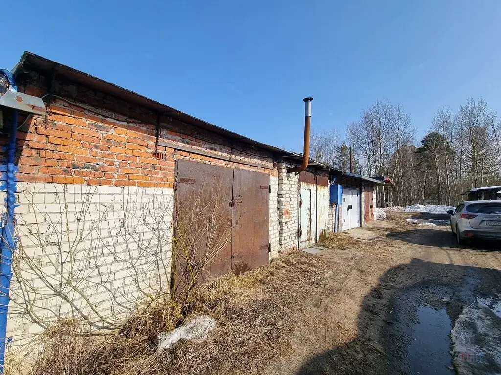
[{"label": "left leaf of the large rusty brown double garage door", "polygon": [[[188,160],[176,161],[176,181],[174,186],[174,240],[176,238],[193,237],[186,241],[187,249],[182,243],[173,244],[174,277],[182,280],[181,274],[197,271],[197,264],[203,263],[203,256],[210,250],[210,229],[206,221],[213,217],[217,209],[219,224],[213,232],[224,241],[224,246],[217,252],[213,260],[205,264],[200,271],[198,283],[209,280],[231,270],[231,198],[233,186],[233,170],[222,166],[203,164]],[[212,203],[210,203],[212,202]],[[215,203],[218,202],[218,207]],[[226,227],[224,227],[224,224]],[[214,238],[212,240],[218,240]],[[180,242],[181,240],[179,240]],[[213,242],[212,242],[213,243]],[[187,256],[184,251],[190,252]],[[194,255],[194,256],[193,256]],[[191,258],[188,261],[188,258]],[[184,283],[175,283],[176,288],[184,288]]]}]

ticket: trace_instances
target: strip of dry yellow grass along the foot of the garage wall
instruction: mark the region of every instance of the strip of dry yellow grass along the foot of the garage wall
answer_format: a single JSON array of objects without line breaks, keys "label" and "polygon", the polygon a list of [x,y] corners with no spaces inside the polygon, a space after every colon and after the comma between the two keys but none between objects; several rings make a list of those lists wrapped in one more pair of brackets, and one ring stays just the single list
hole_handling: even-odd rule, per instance
[{"label": "strip of dry yellow grass along the foot of the garage wall", "polygon": [[[111,335],[82,336],[78,321],[62,320],[40,338],[34,375],[260,373],[287,352],[291,311],[300,294],[321,279],[316,260],[291,254],[280,261],[201,285],[182,302],[164,296],[140,306]],[[319,282],[319,281],[318,281]],[[199,344],[181,341],[156,351],[156,335],[195,314],[215,318],[217,328]],[[17,373],[14,367],[7,371]]]}]

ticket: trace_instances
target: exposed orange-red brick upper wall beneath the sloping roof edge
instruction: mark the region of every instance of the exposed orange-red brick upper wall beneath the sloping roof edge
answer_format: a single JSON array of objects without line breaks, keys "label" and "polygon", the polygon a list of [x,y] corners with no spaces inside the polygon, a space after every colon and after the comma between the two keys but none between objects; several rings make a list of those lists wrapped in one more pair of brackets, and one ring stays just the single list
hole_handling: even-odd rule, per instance
[{"label": "exposed orange-red brick upper wall beneath the sloping roof edge", "polygon": [[[31,72],[20,91],[42,96],[46,78]],[[160,140],[209,150],[237,161],[157,146],[158,114],[68,81],[59,81],[50,98],[50,114],[30,116],[18,131],[19,181],[87,183],[89,185],[172,187],[174,160],[195,159],[278,175],[273,156],[265,150],[231,141],[205,129],[162,117]],[[76,105],[75,103],[78,103]],[[24,120],[20,116],[20,124]],[[4,143],[7,140],[3,139]],[[245,161],[262,163],[267,169]]]}]

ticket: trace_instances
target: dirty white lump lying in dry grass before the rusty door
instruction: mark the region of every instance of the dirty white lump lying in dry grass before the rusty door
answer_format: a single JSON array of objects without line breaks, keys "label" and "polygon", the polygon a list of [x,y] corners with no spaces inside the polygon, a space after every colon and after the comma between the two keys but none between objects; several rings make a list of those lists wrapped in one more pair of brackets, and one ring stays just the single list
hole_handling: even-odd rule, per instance
[{"label": "dirty white lump lying in dry grass before the rusty door", "polygon": [[185,325],[181,325],[169,332],[158,333],[157,351],[169,349],[177,345],[182,338],[193,340],[195,343],[202,342],[216,326],[216,321],[213,318],[197,315]]}]

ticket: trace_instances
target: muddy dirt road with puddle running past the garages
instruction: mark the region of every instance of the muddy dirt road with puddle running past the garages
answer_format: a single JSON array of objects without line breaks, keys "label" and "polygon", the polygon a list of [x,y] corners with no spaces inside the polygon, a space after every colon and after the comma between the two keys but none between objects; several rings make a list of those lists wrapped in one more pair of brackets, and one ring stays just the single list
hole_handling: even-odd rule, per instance
[{"label": "muddy dirt road with puddle running past the garages", "polygon": [[464,341],[474,358],[465,365],[459,353],[452,358],[449,337],[466,305],[501,292],[501,246],[457,247],[446,225],[409,224],[409,217],[336,235],[318,254],[292,255],[313,259],[315,269],[293,285],[291,346],[264,372],[501,371],[478,332]]}]

